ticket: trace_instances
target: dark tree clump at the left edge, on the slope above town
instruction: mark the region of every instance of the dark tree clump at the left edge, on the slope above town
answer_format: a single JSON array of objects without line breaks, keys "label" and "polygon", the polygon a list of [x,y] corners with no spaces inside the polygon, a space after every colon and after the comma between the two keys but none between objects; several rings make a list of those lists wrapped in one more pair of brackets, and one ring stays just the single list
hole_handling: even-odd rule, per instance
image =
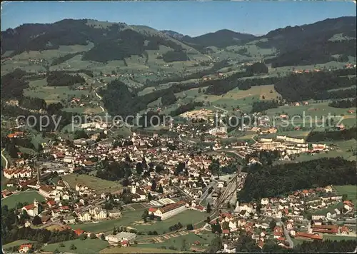
[{"label": "dark tree clump at the left edge, on the slope above town", "polygon": [[11,73],[1,76],[1,100],[23,96],[24,89],[29,87],[29,82],[24,80],[25,75],[26,71],[16,68]]}]

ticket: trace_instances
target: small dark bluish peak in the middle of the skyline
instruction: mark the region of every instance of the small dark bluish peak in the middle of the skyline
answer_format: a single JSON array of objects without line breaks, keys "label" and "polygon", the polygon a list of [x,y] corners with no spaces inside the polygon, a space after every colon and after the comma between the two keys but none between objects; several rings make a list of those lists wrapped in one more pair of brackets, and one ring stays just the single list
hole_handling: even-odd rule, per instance
[{"label": "small dark bluish peak in the middle of the skyline", "polygon": [[203,34],[197,37],[183,36],[181,41],[188,44],[201,45],[204,47],[216,46],[221,48],[242,44],[244,41],[251,41],[255,38],[256,36],[253,36],[253,34],[241,34],[235,31],[223,29],[214,33]]}]

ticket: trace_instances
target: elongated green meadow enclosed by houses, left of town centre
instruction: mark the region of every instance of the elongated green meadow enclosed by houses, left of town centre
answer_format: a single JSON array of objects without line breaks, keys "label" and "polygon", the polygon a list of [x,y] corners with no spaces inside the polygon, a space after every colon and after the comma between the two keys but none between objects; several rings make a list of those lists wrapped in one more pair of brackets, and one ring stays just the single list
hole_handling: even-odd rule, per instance
[{"label": "elongated green meadow enclosed by houses, left of town centre", "polygon": [[62,178],[69,183],[71,188],[76,188],[76,184],[81,184],[99,193],[119,191],[123,187],[120,183],[106,181],[95,176],[71,174],[63,176]]}]

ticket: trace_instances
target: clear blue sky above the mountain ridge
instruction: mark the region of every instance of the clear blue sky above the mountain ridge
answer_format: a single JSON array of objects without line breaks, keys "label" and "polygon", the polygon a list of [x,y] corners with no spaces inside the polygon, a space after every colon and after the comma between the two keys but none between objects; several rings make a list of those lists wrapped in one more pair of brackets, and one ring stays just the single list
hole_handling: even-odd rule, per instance
[{"label": "clear blue sky above the mountain ridge", "polygon": [[220,29],[254,35],[328,18],[356,16],[351,1],[1,1],[1,31],[61,19],[146,25],[199,36]]}]

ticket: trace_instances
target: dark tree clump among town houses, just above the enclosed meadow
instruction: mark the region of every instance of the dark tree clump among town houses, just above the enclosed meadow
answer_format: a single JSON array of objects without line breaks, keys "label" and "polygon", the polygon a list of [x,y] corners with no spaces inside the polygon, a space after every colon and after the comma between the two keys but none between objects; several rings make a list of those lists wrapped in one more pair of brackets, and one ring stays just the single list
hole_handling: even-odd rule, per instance
[{"label": "dark tree clump among town houses, just above the enclosed meadow", "polygon": [[126,161],[103,161],[103,169],[96,171],[96,177],[118,181],[131,176],[131,165]]}]

